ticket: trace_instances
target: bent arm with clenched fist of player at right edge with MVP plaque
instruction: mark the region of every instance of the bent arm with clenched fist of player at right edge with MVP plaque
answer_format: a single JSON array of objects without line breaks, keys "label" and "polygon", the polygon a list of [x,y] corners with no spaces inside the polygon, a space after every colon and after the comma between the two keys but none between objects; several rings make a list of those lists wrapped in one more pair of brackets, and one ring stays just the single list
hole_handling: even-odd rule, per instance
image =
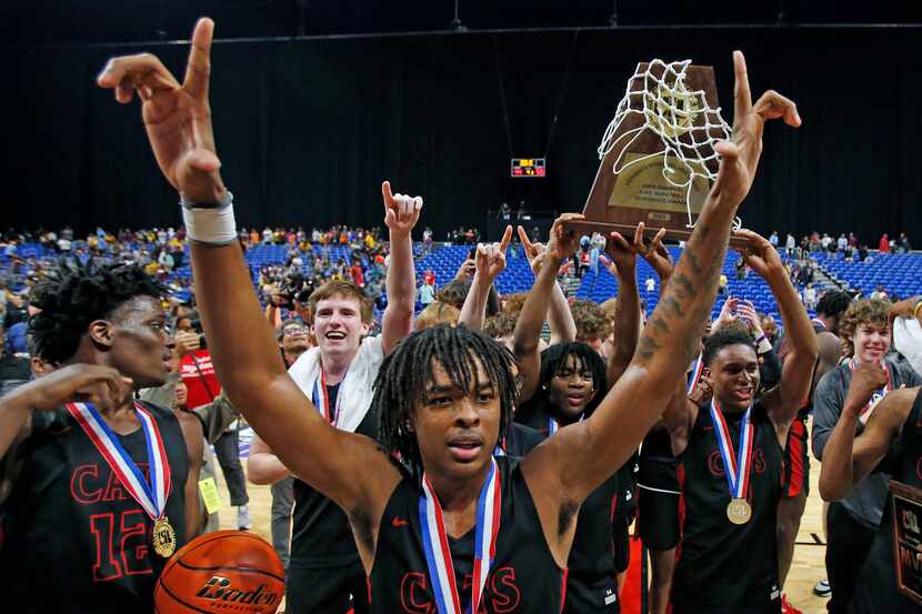
[{"label": "bent arm with clenched fist of player at right edge with MVP plaque", "polygon": [[855,437],[862,410],[871,395],[885,384],[886,373],[879,365],[861,364],[855,369],[842,415],[823,450],[819,484],[823,501],[838,501],[848,495],[878,466],[893,439],[900,434],[919,396],[919,387],[896,390],[884,396],[874,407],[861,436]]}]

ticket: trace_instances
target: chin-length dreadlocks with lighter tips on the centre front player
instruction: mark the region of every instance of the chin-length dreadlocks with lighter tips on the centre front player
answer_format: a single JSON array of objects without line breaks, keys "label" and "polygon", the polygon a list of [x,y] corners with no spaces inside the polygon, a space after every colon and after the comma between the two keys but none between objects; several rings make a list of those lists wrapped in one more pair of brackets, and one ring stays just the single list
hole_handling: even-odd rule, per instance
[{"label": "chin-length dreadlocks with lighter tips on the centre front player", "polygon": [[[399,452],[417,477],[422,476],[422,457],[410,424],[434,378],[437,361],[452,384],[463,391],[477,385],[478,363],[482,365],[493,392],[500,397],[500,437],[512,423],[512,409],[518,399],[512,372],[515,359],[509,350],[479,331],[464,325],[438,324],[401,341],[381,363],[371,406],[380,414],[379,442],[388,452]],[[490,443],[491,446],[494,444]]]}]

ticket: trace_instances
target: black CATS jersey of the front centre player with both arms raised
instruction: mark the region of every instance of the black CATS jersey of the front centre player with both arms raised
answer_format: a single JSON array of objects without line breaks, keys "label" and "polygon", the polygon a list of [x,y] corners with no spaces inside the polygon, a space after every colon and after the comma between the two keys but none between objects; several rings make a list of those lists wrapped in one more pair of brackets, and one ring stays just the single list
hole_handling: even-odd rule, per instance
[{"label": "black CATS jersey of the front centre player with both arms raised", "polygon": [[[483,587],[478,614],[560,612],[563,570],[548,547],[519,463],[501,456],[497,459],[497,466],[500,470],[502,517],[497,556]],[[372,613],[435,612],[419,510],[420,485],[404,474],[381,517],[370,576]],[[462,611],[471,600],[474,533],[471,529],[464,536],[449,540]]]}]

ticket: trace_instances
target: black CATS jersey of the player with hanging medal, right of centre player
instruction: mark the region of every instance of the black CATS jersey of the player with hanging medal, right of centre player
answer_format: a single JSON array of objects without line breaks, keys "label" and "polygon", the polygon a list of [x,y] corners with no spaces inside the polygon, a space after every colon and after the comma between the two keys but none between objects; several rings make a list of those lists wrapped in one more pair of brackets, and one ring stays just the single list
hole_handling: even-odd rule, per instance
[{"label": "black CATS jersey of the player with hanging medal, right of centre player", "polygon": [[[739,449],[741,413],[723,414],[733,450]],[[726,517],[730,491],[710,406],[701,405],[689,444],[679,455],[682,543],[672,581],[673,612],[763,612],[778,594],[775,525],[782,485],[782,451],[761,403],[754,426],[749,501],[752,519]]]}]

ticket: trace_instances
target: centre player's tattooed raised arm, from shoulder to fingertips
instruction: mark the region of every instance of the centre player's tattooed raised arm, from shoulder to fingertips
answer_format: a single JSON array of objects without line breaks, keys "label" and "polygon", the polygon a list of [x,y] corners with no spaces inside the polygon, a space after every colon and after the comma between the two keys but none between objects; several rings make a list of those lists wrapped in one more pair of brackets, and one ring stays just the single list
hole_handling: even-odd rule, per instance
[{"label": "centre player's tattooed raised arm, from shoulder to fingertips", "polygon": [[783,117],[790,125],[800,124],[793,102],[775,92],[766,92],[752,104],[745,60],[740,52],[733,59],[733,140],[715,145],[721,155],[718,179],[633,361],[592,417],[561,429],[522,462],[552,548],[557,544],[565,550],[561,537],[569,524],[561,521],[572,521],[564,517],[568,511],[628,460],[662,416],[677,381],[698,353],[730,229],[755,175],[764,122]]}]

